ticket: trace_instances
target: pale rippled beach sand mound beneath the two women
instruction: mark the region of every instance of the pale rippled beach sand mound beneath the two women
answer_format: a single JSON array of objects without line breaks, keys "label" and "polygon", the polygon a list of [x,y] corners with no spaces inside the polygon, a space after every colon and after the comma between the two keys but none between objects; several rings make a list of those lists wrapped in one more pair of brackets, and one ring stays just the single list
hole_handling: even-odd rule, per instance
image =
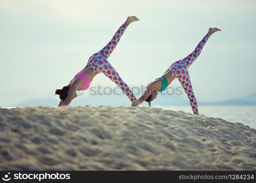
[{"label": "pale rippled beach sand mound beneath the two women", "polygon": [[256,170],[256,130],[160,108],[0,108],[0,170]]}]

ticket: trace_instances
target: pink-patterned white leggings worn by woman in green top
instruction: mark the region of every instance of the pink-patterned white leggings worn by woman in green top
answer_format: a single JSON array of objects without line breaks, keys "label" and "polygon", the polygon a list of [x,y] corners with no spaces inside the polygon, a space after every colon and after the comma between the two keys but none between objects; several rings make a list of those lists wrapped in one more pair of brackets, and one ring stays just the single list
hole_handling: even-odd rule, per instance
[{"label": "pink-patterned white leggings worn by woman in green top", "polygon": [[183,89],[185,90],[186,94],[188,95],[190,105],[192,107],[194,114],[199,114],[197,108],[196,97],[194,96],[193,88],[189,78],[188,67],[197,59],[200,55],[206,41],[211,35],[207,33],[205,37],[199,42],[196,46],[195,50],[185,57],[182,60],[175,61],[171,64],[168,68],[171,72],[173,78],[178,78],[179,82],[181,83]]}]

